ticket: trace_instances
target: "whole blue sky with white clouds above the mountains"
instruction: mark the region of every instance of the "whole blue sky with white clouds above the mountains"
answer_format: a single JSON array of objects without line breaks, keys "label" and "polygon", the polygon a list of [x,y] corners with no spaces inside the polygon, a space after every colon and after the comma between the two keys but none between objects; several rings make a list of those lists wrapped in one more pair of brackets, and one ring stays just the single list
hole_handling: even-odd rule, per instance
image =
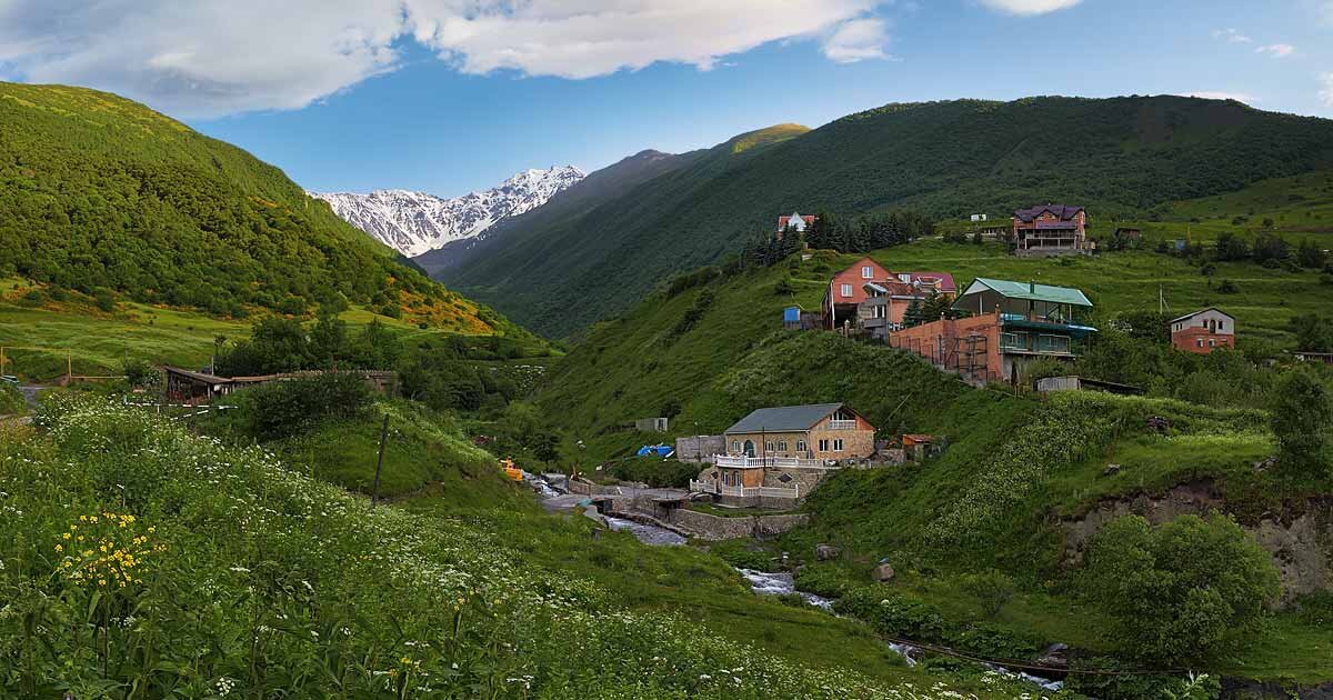
[{"label": "whole blue sky with white clouds above the mountains", "polygon": [[0,79],[143,100],[311,189],[452,196],[892,101],[1333,116],[1333,0],[0,0]]}]

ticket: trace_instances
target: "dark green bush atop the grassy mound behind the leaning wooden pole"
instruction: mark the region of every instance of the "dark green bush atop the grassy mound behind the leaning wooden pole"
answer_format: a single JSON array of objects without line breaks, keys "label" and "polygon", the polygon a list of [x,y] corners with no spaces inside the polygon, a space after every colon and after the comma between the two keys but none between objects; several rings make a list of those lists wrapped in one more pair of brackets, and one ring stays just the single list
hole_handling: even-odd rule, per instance
[{"label": "dark green bush atop the grassy mound behind the leaning wooden pole", "polygon": [[327,372],[247,389],[237,395],[237,411],[248,435],[272,440],[304,432],[325,417],[360,417],[373,401],[375,389],[360,375]]}]

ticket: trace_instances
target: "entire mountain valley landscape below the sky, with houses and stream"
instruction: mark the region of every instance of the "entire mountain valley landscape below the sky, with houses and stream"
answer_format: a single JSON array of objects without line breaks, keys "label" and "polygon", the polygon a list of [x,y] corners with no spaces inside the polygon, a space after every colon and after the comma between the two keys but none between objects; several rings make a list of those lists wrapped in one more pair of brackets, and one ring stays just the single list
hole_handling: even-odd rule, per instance
[{"label": "entire mountain valley landscape below the sky, with houses and stream", "polygon": [[459,200],[0,123],[20,695],[1333,687],[1326,120],[890,104]]}]

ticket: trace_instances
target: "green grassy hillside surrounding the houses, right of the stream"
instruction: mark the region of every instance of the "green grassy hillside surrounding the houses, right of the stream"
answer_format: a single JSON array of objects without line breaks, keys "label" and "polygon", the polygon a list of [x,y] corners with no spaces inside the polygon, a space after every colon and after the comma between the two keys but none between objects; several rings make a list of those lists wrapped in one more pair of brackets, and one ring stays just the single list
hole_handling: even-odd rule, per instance
[{"label": "green grassy hillside surrounding the houses, right of the stream", "polygon": [[[1277,449],[1265,407],[1274,399],[1273,381],[1285,376],[1264,359],[1290,347],[1290,316],[1333,312],[1333,296],[1320,293],[1316,273],[1226,264],[1222,273],[1244,280],[1242,292],[1220,299],[1196,267],[1160,253],[1020,260],[993,245],[942,241],[872,253],[889,269],[953,272],[960,285],[986,275],[1080,287],[1097,304],[1104,343],[1133,348],[1126,364],[1154,341],[1120,339],[1114,321],[1154,312],[1164,285],[1176,308],[1218,303],[1236,313],[1241,353],[1253,353],[1180,355],[1172,360],[1174,373],[1145,383],[1148,397],[1044,399],[1012,388],[973,389],[884,345],[780,329],[782,307],[817,308],[829,275],[856,257],[817,251],[806,261],[693,275],[693,287],[682,279],[623,319],[593,325],[552,369],[539,405],[565,431],[568,452],[585,463],[621,459],[664,437],[716,433],[753,408],[798,403],[845,401],[880,428],[881,439],[904,432],[946,437],[944,456],[920,467],[840,472],[805,504],[812,524],[769,552],[790,552],[805,564],[798,575],[805,589],[846,597],[840,609],[881,633],[990,657],[1025,657],[1065,643],[1092,667],[1134,663],[1109,613],[1084,595],[1082,568],[1065,561],[1062,523],[1098,504],[1186,485],[1213,493],[1228,513],[1253,525],[1274,513],[1294,517],[1333,491],[1328,476],[1289,480],[1254,468]],[[1101,355],[1098,364],[1073,371],[1098,376],[1108,367]],[[1333,373],[1322,380],[1333,387]],[[1198,389],[1213,385],[1224,388]],[[620,428],[659,415],[673,417],[668,436]],[[1170,425],[1165,433],[1152,428],[1154,416]],[[587,448],[573,447],[576,440]],[[1106,475],[1108,464],[1117,471]],[[842,555],[817,563],[818,543]],[[881,560],[898,572],[888,588],[870,580]],[[985,592],[996,587],[1012,587],[997,612]],[[858,596],[902,608],[858,607]],[[1233,652],[1193,659],[1190,668],[1306,685],[1333,680],[1333,636],[1320,613],[1308,612],[1324,609],[1320,600],[1288,608],[1260,632],[1233,640]],[[1073,688],[1144,697],[1142,688]]]}]

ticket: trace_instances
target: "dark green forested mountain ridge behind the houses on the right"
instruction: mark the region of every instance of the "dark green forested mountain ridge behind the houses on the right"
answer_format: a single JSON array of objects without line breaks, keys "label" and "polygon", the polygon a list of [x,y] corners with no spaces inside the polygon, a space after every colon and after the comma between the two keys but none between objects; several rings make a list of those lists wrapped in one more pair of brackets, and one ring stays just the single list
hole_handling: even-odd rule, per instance
[{"label": "dark green forested mountain ridge behind the houses on the right", "polygon": [[[1069,201],[1098,221],[1333,163],[1333,121],[1193,97],[892,104],[736,137],[504,247],[445,281],[549,335],[628,309],[777,216],[910,207],[934,217]],[[760,135],[769,133],[757,132]],[[754,144],[760,147],[754,147]]]}]

